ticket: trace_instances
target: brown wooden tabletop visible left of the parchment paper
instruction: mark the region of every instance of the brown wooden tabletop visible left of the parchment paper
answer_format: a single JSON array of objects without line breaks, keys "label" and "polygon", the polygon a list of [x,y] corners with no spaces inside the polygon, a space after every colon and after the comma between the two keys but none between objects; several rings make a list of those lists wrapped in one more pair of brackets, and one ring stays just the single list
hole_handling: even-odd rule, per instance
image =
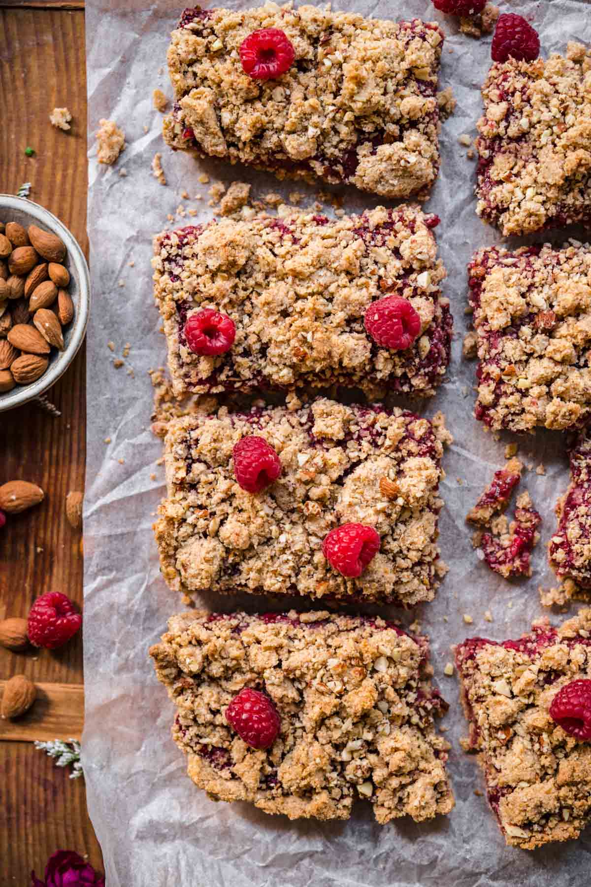
[{"label": "brown wooden tabletop visible left of the parchment paper", "polygon": [[[71,132],[51,126],[55,106],[70,109]],[[0,0],[0,119],[0,192],[31,182],[31,199],[51,209],[88,255],[82,0]],[[25,155],[28,145],[33,157]],[[60,418],[37,404],[0,416],[0,483],[22,478],[45,491],[41,506],[0,532],[0,618],[27,616],[48,591],[82,605],[82,537],[66,522],[64,503],[84,484],[83,349],[49,397]],[[82,638],[53,653],[0,648],[0,681],[19,673],[43,685],[43,700],[18,726],[0,722],[0,885],[28,887],[31,869],[43,877],[58,849],[88,854],[103,871],[84,781],[69,779],[32,742],[80,732]]]}]

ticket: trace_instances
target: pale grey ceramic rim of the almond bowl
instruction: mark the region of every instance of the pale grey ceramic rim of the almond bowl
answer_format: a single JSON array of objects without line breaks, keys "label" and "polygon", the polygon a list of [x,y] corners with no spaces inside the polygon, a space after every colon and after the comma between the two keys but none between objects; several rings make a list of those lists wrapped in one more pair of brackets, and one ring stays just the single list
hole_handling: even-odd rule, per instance
[{"label": "pale grey ceramic rim of the almond bowl", "polygon": [[51,232],[58,234],[64,241],[70,261],[73,263],[79,280],[79,305],[74,316],[74,326],[70,341],[66,349],[59,354],[58,359],[51,364],[46,373],[43,373],[40,379],[25,387],[18,386],[11,391],[0,394],[0,412],[12,410],[15,406],[27,404],[30,400],[43,394],[43,391],[50,389],[52,385],[66,372],[68,366],[74,360],[78,353],[86,327],[89,321],[90,309],[90,274],[89,266],[82,253],[80,244],[75,239],[74,234],[70,232],[63,222],[60,222],[58,216],[54,216],[49,209],[42,207],[34,200],[28,200],[26,197],[17,197],[14,194],[0,193],[0,210],[19,209],[26,212],[35,221],[41,222]]}]

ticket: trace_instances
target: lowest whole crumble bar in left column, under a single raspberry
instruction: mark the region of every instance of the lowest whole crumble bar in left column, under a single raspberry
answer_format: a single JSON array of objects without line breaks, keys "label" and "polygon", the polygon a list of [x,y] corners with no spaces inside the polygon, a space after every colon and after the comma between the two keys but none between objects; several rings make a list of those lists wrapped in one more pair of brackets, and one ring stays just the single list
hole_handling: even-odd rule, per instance
[{"label": "lowest whole crumble bar in left column, under a single raspberry", "polygon": [[[189,775],[212,799],[291,820],[346,820],[358,797],[380,823],[453,808],[449,745],[433,723],[447,704],[431,686],[425,638],[326,611],[198,611],[173,616],[150,653],[176,705]],[[276,712],[268,748],[232,726],[230,703],[245,687]]]}]

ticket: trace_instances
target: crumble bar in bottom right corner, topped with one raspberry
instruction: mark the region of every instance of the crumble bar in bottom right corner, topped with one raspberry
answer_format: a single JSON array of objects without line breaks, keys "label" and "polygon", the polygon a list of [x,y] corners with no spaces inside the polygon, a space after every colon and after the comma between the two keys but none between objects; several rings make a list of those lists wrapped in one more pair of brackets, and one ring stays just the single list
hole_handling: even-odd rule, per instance
[{"label": "crumble bar in bottom right corner, topped with one raspberry", "polygon": [[478,752],[507,844],[578,837],[591,818],[591,609],[520,640],[470,638],[455,661],[466,747]]}]

